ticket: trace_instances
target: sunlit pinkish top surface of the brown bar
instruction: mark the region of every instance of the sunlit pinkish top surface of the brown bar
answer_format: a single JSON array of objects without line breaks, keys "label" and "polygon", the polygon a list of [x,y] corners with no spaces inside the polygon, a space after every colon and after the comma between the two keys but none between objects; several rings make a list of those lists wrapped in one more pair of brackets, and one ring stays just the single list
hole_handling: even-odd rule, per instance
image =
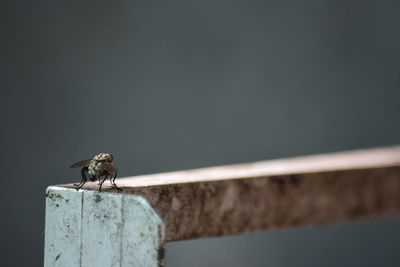
[{"label": "sunlit pinkish top surface of the brown bar", "polygon": [[[340,170],[372,169],[396,165],[400,165],[400,146],[146,174],[119,178],[117,179],[117,183],[118,186],[131,188]],[[104,186],[109,187],[109,181],[106,181]],[[85,187],[97,189],[98,185],[96,183],[88,183]]]}]

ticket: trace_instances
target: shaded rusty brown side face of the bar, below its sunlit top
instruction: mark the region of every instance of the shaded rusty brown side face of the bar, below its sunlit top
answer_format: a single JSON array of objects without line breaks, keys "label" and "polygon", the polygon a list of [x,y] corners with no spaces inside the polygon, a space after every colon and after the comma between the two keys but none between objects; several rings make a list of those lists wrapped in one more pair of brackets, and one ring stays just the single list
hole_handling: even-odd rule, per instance
[{"label": "shaded rusty brown side face of the bar, below its sunlit top", "polygon": [[400,166],[124,188],[164,219],[166,241],[400,214]]}]

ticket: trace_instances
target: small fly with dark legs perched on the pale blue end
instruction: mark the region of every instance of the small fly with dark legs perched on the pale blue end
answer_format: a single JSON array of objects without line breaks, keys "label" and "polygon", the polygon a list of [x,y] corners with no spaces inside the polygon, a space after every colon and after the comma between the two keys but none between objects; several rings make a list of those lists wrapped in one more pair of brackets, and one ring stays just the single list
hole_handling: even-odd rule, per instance
[{"label": "small fly with dark legs perched on the pale blue end", "polygon": [[[99,180],[99,191],[101,191],[101,186],[107,178],[110,178],[111,185],[114,188],[121,190],[121,188],[115,184],[115,178],[117,177],[118,169],[115,165],[113,155],[109,153],[100,153],[91,159],[79,161],[75,164],[72,164],[71,168],[82,168],[82,181],[79,184],[74,184],[77,190],[82,188],[82,186],[88,180]],[[101,180],[101,177],[104,178]]]}]

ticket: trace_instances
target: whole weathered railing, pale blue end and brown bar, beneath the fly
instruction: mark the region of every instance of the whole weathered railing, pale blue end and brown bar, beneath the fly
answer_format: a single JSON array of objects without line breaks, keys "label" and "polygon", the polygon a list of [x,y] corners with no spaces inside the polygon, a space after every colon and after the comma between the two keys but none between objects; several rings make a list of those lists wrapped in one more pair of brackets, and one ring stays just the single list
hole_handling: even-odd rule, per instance
[{"label": "whole weathered railing, pale blue end and brown bar, beneath the fly", "polygon": [[45,266],[162,266],[164,243],[400,214],[400,147],[50,186]]}]

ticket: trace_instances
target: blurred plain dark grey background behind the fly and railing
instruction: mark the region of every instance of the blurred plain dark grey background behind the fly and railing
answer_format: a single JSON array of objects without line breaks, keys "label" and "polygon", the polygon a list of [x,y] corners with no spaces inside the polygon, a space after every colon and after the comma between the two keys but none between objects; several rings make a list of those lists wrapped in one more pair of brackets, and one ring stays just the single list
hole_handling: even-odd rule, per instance
[{"label": "blurred plain dark grey background behind the fly and railing", "polygon": [[[2,266],[48,185],[400,143],[398,1],[2,1]],[[400,218],[167,245],[166,266],[399,266]]]}]

